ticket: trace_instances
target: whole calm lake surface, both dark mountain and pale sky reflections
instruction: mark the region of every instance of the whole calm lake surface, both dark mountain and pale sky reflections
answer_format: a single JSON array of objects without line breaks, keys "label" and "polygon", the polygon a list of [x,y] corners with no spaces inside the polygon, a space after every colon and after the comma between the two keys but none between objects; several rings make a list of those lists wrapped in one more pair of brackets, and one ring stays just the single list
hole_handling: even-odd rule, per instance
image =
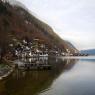
[{"label": "whole calm lake surface, both dark mountain and pale sky reflections", "polygon": [[[16,62],[39,61],[38,59]],[[0,81],[0,95],[95,95],[95,59],[41,58],[51,70],[16,70]]]}]

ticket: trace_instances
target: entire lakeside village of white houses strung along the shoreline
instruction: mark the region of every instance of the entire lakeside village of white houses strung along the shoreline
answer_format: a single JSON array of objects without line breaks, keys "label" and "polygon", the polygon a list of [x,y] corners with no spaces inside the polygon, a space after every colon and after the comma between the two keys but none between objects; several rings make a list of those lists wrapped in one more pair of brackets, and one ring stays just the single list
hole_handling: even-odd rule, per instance
[{"label": "entire lakeside village of white houses strung along the shoreline", "polygon": [[[67,48],[66,51],[59,49],[56,45],[52,49],[48,47],[41,39],[33,39],[29,41],[23,39],[18,41],[13,39],[13,42],[8,45],[9,50],[5,55],[6,59],[9,57],[19,58],[31,58],[31,57],[48,57],[48,56],[87,56],[87,54],[71,53]],[[2,49],[0,48],[0,58]]]}]

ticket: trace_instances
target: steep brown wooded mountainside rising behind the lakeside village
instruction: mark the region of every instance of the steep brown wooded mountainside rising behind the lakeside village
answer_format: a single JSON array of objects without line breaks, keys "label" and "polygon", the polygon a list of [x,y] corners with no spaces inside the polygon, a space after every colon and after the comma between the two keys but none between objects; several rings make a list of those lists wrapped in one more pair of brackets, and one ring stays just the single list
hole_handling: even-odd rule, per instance
[{"label": "steep brown wooded mountainside rising behind the lakeside village", "polygon": [[78,52],[71,43],[61,39],[49,25],[32,15],[23,4],[10,3],[11,0],[4,1],[0,1],[1,49],[8,51],[9,44],[15,43],[14,40],[21,42],[27,38],[30,41],[40,39],[49,49],[57,47],[64,52],[67,52],[67,49],[72,53]]}]

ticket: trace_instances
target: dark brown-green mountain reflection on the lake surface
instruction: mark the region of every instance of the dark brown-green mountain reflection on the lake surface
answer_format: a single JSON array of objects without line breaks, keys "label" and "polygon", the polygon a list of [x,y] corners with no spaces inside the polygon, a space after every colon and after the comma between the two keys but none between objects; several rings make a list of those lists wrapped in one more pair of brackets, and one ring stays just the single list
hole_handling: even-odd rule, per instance
[{"label": "dark brown-green mountain reflection on the lake surface", "polygon": [[[7,79],[0,81],[0,95],[36,95],[50,88],[52,83],[64,72],[70,70],[77,60],[61,58],[31,58],[21,59],[16,62],[21,64],[36,63],[50,64],[51,70],[25,71],[16,68]],[[49,94],[47,94],[49,95]]]}]

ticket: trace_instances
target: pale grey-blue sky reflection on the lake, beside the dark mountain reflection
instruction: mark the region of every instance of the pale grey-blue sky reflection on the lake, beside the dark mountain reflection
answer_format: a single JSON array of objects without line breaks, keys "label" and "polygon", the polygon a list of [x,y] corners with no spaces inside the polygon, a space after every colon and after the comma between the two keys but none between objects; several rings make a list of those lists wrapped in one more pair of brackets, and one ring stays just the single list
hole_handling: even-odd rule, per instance
[{"label": "pale grey-blue sky reflection on the lake, beside the dark mountain reflection", "polygon": [[95,61],[79,60],[38,95],[95,95]]}]

